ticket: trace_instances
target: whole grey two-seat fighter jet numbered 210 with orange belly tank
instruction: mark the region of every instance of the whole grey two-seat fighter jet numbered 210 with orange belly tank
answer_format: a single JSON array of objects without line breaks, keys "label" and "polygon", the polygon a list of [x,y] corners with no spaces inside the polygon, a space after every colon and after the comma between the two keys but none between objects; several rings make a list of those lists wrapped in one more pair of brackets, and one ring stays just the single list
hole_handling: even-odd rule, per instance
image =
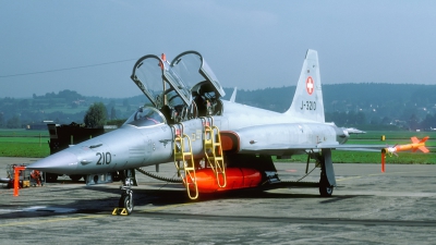
[{"label": "whole grey two-seat fighter jet numbered 210 with orange belly tank", "polygon": [[[271,157],[307,155],[320,168],[322,196],[336,186],[331,149],[347,130],[326,123],[318,54],[307,50],[290,108],[274,112],[222,99],[225,91],[197,51],[171,62],[142,57],[131,78],[149,99],[118,130],[71,146],[31,166],[50,173],[86,175],[86,183],[122,182],[120,212],[133,211],[135,170],[174,162],[190,198],[280,183]],[[362,146],[360,146],[362,147]]]}]

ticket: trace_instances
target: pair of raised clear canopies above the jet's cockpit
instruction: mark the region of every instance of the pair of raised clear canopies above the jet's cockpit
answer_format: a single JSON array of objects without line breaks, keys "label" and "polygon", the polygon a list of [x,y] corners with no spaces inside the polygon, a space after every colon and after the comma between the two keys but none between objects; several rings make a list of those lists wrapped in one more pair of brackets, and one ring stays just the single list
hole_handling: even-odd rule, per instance
[{"label": "pair of raised clear canopies above the jet's cockpit", "polygon": [[214,98],[226,95],[197,51],[182,52],[171,64],[155,54],[144,56],[133,66],[131,78],[158,109],[166,105],[190,107],[192,97],[197,95],[213,94]]}]

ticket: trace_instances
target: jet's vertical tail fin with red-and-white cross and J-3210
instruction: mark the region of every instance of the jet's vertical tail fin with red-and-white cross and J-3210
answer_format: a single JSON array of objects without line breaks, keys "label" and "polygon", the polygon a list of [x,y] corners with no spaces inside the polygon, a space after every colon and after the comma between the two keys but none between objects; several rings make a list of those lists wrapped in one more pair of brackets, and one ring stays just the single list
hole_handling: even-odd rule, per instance
[{"label": "jet's vertical tail fin with red-and-white cross and J-3210", "polygon": [[325,122],[318,53],[315,50],[307,50],[292,105],[284,113],[307,121]]}]

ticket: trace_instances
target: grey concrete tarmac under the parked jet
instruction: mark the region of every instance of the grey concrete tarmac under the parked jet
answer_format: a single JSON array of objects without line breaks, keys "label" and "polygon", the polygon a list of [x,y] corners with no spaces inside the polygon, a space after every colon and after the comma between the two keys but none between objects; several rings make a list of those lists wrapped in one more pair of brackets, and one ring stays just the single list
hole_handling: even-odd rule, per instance
[{"label": "grey concrete tarmac under the parked jet", "polygon": [[[0,158],[0,177],[7,164],[35,160]],[[304,163],[276,167],[281,180],[305,175]],[[137,173],[131,216],[111,215],[120,183],[86,186],[61,176],[16,197],[0,184],[0,244],[436,244],[436,166],[387,164],[386,173],[380,164],[334,167],[338,186],[328,198],[286,187],[193,201],[181,184]],[[175,177],[172,163],[159,169]],[[302,181],[318,179],[315,169]]]}]

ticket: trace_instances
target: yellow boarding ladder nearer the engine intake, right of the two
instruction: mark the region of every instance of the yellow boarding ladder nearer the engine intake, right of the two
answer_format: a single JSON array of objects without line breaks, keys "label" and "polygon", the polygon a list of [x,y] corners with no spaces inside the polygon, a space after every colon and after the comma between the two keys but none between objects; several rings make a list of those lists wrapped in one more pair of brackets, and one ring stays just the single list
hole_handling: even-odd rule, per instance
[{"label": "yellow boarding ladder nearer the engine intake, right of the two", "polygon": [[208,166],[215,173],[219,187],[226,187],[226,166],[222,156],[221,136],[218,126],[214,125],[214,118],[202,118],[204,130],[204,151]]}]

